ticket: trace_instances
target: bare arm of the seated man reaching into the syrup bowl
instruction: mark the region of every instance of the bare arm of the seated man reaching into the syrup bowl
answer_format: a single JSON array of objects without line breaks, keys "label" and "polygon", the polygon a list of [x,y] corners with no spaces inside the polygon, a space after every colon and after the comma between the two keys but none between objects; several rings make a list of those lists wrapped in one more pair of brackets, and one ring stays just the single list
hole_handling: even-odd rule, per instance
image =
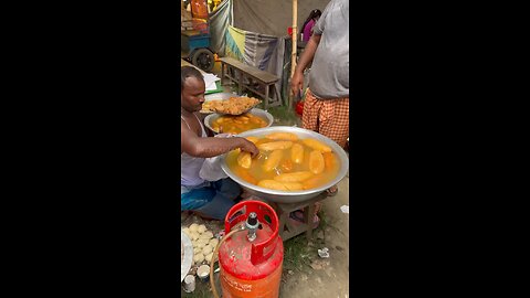
[{"label": "bare arm of the seated man reaching into the syrup bowl", "polygon": [[257,147],[245,138],[200,138],[188,127],[180,126],[180,152],[192,157],[211,158],[240,148],[255,157],[259,153]]}]

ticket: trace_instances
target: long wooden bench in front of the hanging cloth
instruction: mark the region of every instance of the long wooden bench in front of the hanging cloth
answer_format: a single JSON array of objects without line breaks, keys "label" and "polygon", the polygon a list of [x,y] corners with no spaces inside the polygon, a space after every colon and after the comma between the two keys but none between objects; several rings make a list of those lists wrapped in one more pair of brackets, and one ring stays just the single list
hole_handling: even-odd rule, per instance
[{"label": "long wooden bench in front of the hanging cloth", "polygon": [[[282,97],[279,91],[276,88],[276,82],[279,77],[261,71],[254,66],[246,65],[235,58],[221,57],[221,85],[224,85],[224,78],[229,78],[230,82],[237,83],[237,94],[242,94],[244,89],[250,89],[264,98],[265,109],[268,106],[282,105]],[[248,79],[248,83],[245,81]],[[254,83],[257,83],[264,88],[264,93],[254,87]],[[273,97],[269,97],[269,91]]]}]

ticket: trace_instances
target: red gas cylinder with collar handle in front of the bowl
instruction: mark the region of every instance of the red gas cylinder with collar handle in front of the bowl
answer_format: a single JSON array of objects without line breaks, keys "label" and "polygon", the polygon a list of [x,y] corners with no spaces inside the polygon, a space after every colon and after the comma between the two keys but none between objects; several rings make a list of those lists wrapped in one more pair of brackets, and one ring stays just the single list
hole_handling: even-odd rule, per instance
[{"label": "red gas cylinder with collar handle in front of the bowl", "polygon": [[243,201],[226,214],[225,234],[240,222],[257,228],[233,234],[219,248],[223,298],[277,298],[284,260],[278,216],[266,203]]}]

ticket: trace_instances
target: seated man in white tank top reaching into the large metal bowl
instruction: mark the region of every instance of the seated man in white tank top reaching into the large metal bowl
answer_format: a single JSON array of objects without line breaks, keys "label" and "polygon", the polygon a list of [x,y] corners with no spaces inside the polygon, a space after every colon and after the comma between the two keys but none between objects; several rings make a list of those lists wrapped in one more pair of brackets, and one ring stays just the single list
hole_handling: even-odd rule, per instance
[{"label": "seated man in white tank top reaching into the large metal bowl", "polygon": [[257,147],[245,138],[208,137],[198,116],[204,103],[204,78],[192,66],[181,67],[180,93],[180,202],[181,211],[193,211],[203,217],[224,220],[242,190],[232,179],[205,181],[199,174],[205,158],[240,148],[257,156]]}]

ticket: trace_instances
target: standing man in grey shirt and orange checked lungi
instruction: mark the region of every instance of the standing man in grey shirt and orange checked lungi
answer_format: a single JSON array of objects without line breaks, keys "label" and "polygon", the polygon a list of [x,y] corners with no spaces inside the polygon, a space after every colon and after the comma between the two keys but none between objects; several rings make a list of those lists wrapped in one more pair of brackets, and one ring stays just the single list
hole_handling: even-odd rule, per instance
[{"label": "standing man in grey shirt and orange checked lungi", "polygon": [[[312,63],[304,102],[303,127],[330,138],[342,148],[349,135],[348,15],[348,0],[331,0],[328,3],[312,29],[292,78],[292,92],[295,95],[301,93],[304,70]],[[327,192],[336,195],[338,187],[333,185]],[[317,212],[318,209],[319,205]]]}]

